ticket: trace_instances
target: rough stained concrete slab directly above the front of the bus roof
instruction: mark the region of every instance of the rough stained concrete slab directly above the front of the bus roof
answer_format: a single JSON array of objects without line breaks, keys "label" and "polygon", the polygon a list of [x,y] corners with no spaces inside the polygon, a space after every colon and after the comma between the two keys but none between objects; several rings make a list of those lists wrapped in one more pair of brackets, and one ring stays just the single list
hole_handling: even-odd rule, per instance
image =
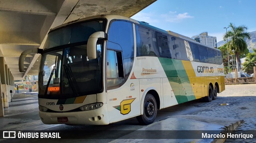
[{"label": "rough stained concrete slab directly above the front of the bus roof", "polygon": [[72,14],[64,22],[102,14],[132,17],[156,0],[80,0]]}]

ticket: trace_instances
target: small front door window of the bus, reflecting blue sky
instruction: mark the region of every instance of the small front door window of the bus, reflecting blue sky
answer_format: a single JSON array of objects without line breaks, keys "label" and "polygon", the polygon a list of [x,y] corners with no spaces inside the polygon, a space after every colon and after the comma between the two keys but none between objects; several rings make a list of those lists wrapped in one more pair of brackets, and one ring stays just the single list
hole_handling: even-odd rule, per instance
[{"label": "small front door window of the bus, reflecting blue sky", "polygon": [[124,83],[122,52],[107,50],[107,90],[115,89]]}]

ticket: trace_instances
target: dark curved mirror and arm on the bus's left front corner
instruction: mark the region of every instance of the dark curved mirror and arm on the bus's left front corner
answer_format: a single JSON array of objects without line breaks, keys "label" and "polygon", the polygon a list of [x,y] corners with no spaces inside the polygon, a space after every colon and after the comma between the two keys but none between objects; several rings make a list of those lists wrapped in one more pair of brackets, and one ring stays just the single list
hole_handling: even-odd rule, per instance
[{"label": "dark curved mirror and arm on the bus's left front corner", "polygon": [[28,49],[28,50],[22,52],[20,54],[20,58],[19,58],[19,70],[20,70],[20,72],[24,72],[24,60],[25,60],[25,58],[28,54],[31,54],[31,53],[41,54],[42,51],[43,51],[43,49],[33,48],[33,49]]}]

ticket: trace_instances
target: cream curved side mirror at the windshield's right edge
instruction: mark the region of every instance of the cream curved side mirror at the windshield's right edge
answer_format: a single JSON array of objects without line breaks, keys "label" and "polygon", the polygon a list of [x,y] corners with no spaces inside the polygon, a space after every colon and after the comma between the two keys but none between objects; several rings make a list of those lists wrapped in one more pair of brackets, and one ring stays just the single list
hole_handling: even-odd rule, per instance
[{"label": "cream curved side mirror at the windshield's right edge", "polygon": [[87,58],[88,59],[96,59],[96,45],[98,39],[106,38],[106,33],[103,31],[98,31],[90,35],[87,42]]}]

